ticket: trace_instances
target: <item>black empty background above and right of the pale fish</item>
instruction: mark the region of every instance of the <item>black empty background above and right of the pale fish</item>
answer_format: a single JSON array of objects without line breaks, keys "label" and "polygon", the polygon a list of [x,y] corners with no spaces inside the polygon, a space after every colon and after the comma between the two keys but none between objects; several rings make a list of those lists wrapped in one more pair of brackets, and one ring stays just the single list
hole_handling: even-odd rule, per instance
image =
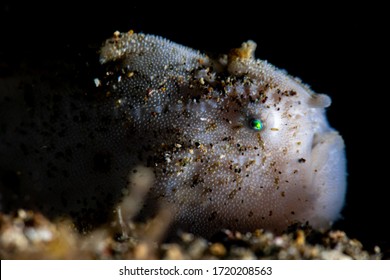
[{"label": "black empty background above and right of the pale fish", "polygon": [[[332,97],[329,121],[343,135],[348,158],[344,219],[336,228],[368,249],[390,248],[389,158],[383,7],[274,7],[246,1],[155,4],[116,1],[80,6],[0,4],[0,66],[28,57],[67,59],[96,53],[115,30],[144,32],[207,52],[224,53],[243,41],[256,56]],[[96,54],[97,58],[97,54]],[[0,77],[1,78],[1,77]]]}]

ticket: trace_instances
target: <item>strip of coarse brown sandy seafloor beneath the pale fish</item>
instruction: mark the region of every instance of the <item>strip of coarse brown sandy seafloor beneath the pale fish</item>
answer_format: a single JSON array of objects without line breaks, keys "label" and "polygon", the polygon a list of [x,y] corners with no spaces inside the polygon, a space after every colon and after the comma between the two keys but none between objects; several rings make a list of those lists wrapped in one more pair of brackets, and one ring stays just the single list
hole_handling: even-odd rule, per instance
[{"label": "strip of coarse brown sandy seafloor beneath the pale fish", "polygon": [[[166,218],[166,217],[165,217]],[[379,247],[366,251],[344,231],[291,228],[274,235],[261,229],[241,233],[221,230],[209,239],[178,232],[165,239],[164,215],[125,230],[113,220],[88,234],[69,221],[51,223],[32,211],[0,216],[0,259],[282,259],[378,260]]]}]

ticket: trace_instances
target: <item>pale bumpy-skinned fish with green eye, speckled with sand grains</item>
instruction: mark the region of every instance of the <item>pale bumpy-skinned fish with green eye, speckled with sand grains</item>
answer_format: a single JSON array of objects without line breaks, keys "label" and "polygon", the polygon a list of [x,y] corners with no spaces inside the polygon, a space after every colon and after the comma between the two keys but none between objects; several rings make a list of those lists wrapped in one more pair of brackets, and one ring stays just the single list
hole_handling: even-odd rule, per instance
[{"label": "pale bumpy-skinned fish with green eye, speckled with sand grains", "polygon": [[[210,58],[160,37],[116,32],[101,49],[104,98],[86,106],[66,97],[74,99],[61,101],[67,117],[53,128],[65,125],[65,138],[50,138],[55,148],[44,159],[11,164],[31,173],[23,191],[44,194],[35,200],[53,211],[82,213],[107,196],[119,199],[129,172],[143,166],[154,184],[141,215],[168,204],[174,224],[194,233],[329,228],[346,192],[344,143],[325,116],[330,98],[255,60],[255,47],[249,41]],[[67,121],[79,115],[87,124]],[[28,133],[42,142],[34,122]],[[65,150],[73,152],[68,161]],[[42,175],[48,162],[70,179]]]}]

